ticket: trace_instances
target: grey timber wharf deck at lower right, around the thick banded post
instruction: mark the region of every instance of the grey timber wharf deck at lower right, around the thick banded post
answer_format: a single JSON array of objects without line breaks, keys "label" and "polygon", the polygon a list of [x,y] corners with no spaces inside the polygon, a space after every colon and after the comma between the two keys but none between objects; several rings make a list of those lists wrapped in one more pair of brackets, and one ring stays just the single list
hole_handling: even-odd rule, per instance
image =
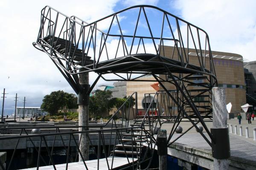
[{"label": "grey timber wharf deck at lower right, around the thick banded post", "polygon": [[[206,133],[204,134],[207,136]],[[175,139],[177,136],[179,134],[174,134],[172,139]],[[230,135],[230,153],[230,170],[256,169],[256,142],[250,142]],[[168,155],[213,170],[212,149],[200,133],[183,135],[168,147]]]}]

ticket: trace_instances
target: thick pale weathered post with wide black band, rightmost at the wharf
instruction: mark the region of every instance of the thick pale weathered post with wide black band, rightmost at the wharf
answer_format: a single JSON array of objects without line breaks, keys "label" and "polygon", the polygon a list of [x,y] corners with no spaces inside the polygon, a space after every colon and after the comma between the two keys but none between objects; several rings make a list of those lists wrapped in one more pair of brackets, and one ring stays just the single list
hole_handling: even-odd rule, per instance
[{"label": "thick pale weathered post with wide black band, rightmost at the wharf", "polygon": [[[228,137],[228,128],[227,128],[227,108],[226,108],[226,96],[225,96],[225,88],[216,87],[212,88],[212,118],[213,118],[213,128],[218,129],[226,129]],[[217,134],[218,135],[218,134]],[[216,139],[216,136],[213,136]],[[216,144],[216,146],[219,146]],[[228,140],[229,146],[229,140]],[[230,148],[225,148],[225,150],[229,151]],[[214,150],[212,150],[214,152]],[[229,157],[229,156],[227,156]],[[213,158],[213,166],[214,170],[228,170],[229,161],[228,158],[217,159]]]}]

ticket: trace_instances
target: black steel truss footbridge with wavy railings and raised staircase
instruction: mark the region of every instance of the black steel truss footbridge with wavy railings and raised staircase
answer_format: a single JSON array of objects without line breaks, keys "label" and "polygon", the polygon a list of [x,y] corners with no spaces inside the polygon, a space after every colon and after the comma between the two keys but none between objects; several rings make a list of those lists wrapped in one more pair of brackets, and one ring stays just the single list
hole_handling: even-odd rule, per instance
[{"label": "black steel truss footbridge with wavy railings and raised staircase", "polygon": [[[211,89],[217,86],[217,79],[209,37],[203,29],[154,6],[133,6],[92,23],[76,16],[68,17],[46,6],[41,11],[39,34],[33,45],[50,57],[77,94],[82,91],[78,77],[81,73],[98,74],[87,94],[99,78],[106,81],[158,82],[163,91],[154,94],[140,124],[135,124],[139,128],[144,128],[145,124],[151,126],[151,123],[152,127],[161,127],[164,122],[157,109],[162,109],[166,98],[165,111],[175,122],[168,142],[175,141],[171,139],[180,117],[186,117],[211,145],[196,125],[200,122],[212,139],[203,119],[211,113]],[[173,46],[172,51],[168,51],[167,45]],[[195,56],[190,56],[191,52]],[[143,79],[146,75],[152,75],[154,80]],[[154,101],[158,105],[154,105]],[[171,107],[177,108],[177,116],[172,116]],[[152,108],[157,112],[157,119],[154,119]],[[201,115],[203,113],[204,116]],[[197,118],[197,122],[192,117]],[[125,128],[132,131],[134,127]],[[144,137],[150,139],[148,146],[152,150],[155,137],[153,129],[148,130],[152,133],[145,131]]]}]

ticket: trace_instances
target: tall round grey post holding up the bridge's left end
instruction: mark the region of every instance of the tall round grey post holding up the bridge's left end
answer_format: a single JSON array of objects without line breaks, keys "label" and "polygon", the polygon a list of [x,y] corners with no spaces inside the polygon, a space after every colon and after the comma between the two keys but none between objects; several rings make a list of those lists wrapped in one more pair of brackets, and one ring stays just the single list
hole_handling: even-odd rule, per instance
[{"label": "tall round grey post holding up the bridge's left end", "polygon": [[[88,73],[79,74],[79,83],[81,84],[81,86],[88,85],[89,84],[89,74]],[[86,89],[84,89],[84,90],[86,90]],[[83,91],[80,91],[80,93],[82,93],[82,92]],[[79,93],[79,97],[80,97],[80,93]],[[84,100],[84,99],[80,99],[80,103],[78,101],[78,104],[79,104],[79,107],[78,107],[79,122],[78,122],[78,124],[79,124],[79,126],[88,126],[89,125],[89,108],[88,108],[89,101],[86,102],[87,104],[81,104],[82,103],[81,100]],[[85,99],[85,100],[87,100],[87,99]],[[79,131],[82,131],[82,130],[89,130],[89,128],[87,127],[87,128],[82,129],[81,127],[79,127]],[[80,138],[81,138],[81,141],[80,141],[79,149],[81,151],[81,154],[84,157],[84,160],[89,160],[89,136],[88,136],[88,134],[85,134],[85,133],[79,134],[79,139]],[[82,161],[80,155],[79,155],[79,161]]]}]

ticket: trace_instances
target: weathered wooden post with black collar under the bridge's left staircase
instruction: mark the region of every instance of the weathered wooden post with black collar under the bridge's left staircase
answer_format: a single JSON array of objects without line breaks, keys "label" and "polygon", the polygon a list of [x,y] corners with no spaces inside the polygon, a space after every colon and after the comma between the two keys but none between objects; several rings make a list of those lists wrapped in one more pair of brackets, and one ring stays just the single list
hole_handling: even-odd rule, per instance
[{"label": "weathered wooden post with black collar under the bridge's left staircase", "polygon": [[[83,70],[81,70],[83,71]],[[89,125],[89,94],[87,91],[90,88],[89,85],[89,74],[88,73],[81,73],[79,74],[79,83],[81,85],[77,104],[78,106],[78,113],[79,113],[79,126],[88,126]],[[88,127],[79,127],[79,131],[89,130]],[[79,134],[80,146],[79,149],[81,151],[81,155],[83,156],[84,160],[89,160],[89,134],[88,133],[80,133]],[[81,156],[79,155],[79,161],[83,161]]]}]

